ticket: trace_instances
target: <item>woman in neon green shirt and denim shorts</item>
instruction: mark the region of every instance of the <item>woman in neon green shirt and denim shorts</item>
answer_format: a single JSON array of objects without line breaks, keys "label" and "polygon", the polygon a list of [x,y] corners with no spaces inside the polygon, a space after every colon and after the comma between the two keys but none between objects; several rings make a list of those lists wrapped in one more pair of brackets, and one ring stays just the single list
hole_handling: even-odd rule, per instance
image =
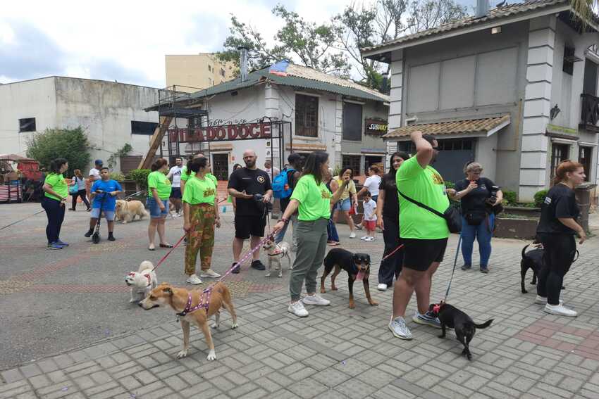
[{"label": "woman in neon green shirt and denim shorts", "polygon": [[168,162],[164,158],[157,159],[152,163],[152,172],[148,175],[148,198],[147,205],[150,211],[150,222],[148,226],[148,238],[150,251],[154,251],[154,238],[156,230],[160,238],[160,248],[173,248],[166,243],[164,235],[164,221],[168,215],[168,198],[171,196],[171,182],[166,178]]}]

